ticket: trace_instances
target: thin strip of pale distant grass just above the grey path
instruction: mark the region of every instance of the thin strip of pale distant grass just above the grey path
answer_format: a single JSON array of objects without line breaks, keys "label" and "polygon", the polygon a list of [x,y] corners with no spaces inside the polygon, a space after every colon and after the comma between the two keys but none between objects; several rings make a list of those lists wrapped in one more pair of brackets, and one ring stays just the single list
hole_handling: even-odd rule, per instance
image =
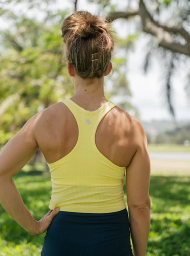
[{"label": "thin strip of pale distant grass just above the grey path", "polygon": [[190,146],[178,144],[148,144],[149,152],[190,152]]}]

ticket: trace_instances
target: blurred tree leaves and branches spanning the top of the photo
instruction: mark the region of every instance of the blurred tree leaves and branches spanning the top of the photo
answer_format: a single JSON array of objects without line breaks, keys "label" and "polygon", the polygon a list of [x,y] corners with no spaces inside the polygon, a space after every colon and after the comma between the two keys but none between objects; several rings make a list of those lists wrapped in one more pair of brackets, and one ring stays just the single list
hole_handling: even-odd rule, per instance
[{"label": "blurred tree leaves and branches spanning the top of the photo", "polygon": [[[114,73],[105,81],[105,96],[122,96],[118,104],[124,110],[140,118],[139,112],[130,102],[132,93],[127,80],[127,52],[132,50],[139,35],[150,35],[144,60],[144,72],[151,66],[151,58],[160,58],[165,79],[165,92],[170,113],[175,117],[172,102],[171,78],[181,63],[189,65],[190,56],[190,1],[188,0],[140,0],[132,8],[132,0],[125,9],[119,9],[117,1],[88,0],[96,2],[107,21],[117,19],[133,20],[135,33],[120,38],[117,32],[115,52],[112,58]],[[60,24],[79,6],[73,2],[73,9],[54,9],[52,0],[6,0],[0,3],[1,18],[11,22],[8,29],[1,31],[0,55],[0,144],[6,143],[24,123],[38,111],[71,97],[74,85],[67,72],[62,51]],[[28,10],[39,9],[44,14],[41,21],[28,17],[27,12],[18,14],[14,6],[26,4]],[[170,12],[166,16],[163,13]],[[161,17],[165,21],[161,21]],[[114,30],[114,29],[112,29]],[[186,94],[190,95],[190,69],[187,68]]]}]

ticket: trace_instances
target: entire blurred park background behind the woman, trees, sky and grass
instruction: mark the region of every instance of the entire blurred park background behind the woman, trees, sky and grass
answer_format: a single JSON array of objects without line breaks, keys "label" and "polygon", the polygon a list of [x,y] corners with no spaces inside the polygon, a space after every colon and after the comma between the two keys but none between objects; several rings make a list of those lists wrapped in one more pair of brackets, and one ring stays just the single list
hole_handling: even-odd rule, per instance
[{"label": "entire blurred park background behind the woman, trees, sky and grass", "polygon": [[[61,22],[75,10],[112,21],[114,73],[105,97],[139,119],[151,158],[148,256],[190,255],[190,1],[0,0],[0,150],[38,111],[74,93]],[[49,210],[51,177],[40,151],[13,177],[36,220]],[[124,198],[126,184],[124,178]],[[40,255],[0,205],[0,255]]]}]

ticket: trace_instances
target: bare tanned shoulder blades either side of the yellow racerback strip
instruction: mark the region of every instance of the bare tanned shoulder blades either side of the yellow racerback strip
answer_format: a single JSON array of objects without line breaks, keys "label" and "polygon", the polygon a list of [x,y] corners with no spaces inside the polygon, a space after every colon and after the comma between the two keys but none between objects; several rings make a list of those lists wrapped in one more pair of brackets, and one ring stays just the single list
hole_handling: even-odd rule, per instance
[{"label": "bare tanned shoulder blades either side of the yellow racerback strip", "polygon": [[[83,108],[87,110],[87,107]],[[77,122],[62,102],[39,114],[36,138],[47,163],[53,163],[75,147],[79,135]],[[97,127],[97,148],[114,164],[127,167],[137,150],[138,125],[139,121],[119,106],[112,108]]]}]

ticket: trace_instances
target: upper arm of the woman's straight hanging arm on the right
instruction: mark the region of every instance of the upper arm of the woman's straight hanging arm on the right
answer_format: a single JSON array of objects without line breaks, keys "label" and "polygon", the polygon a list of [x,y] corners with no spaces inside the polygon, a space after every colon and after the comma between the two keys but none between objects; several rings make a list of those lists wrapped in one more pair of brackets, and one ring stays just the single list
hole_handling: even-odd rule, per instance
[{"label": "upper arm of the woman's straight hanging arm on the right", "polygon": [[126,195],[128,207],[149,205],[150,157],[147,137],[141,123],[137,123],[137,151],[126,168]]}]

